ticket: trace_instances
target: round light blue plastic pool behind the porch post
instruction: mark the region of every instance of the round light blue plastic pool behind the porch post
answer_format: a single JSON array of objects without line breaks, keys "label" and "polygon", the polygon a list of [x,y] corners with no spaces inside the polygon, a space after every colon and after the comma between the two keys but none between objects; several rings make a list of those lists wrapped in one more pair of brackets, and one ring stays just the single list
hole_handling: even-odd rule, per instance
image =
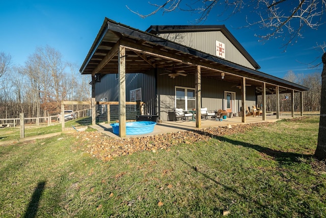
[{"label": "round light blue plastic pool behind the porch post", "polygon": [[[119,123],[110,124],[114,134],[119,134]],[[136,121],[126,123],[126,134],[127,135],[140,135],[151,133],[154,130],[156,122],[153,121]]]}]

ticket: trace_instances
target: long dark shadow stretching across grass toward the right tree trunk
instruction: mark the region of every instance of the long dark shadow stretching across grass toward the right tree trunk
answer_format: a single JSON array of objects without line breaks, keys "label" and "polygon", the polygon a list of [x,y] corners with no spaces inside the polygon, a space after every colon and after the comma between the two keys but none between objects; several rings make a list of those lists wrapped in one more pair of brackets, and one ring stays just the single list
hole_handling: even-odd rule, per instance
[{"label": "long dark shadow stretching across grass toward the right tree trunk", "polygon": [[275,158],[276,161],[280,163],[287,163],[287,162],[298,162],[298,158],[305,158],[309,159],[313,157],[313,155],[305,155],[305,154],[299,154],[299,153],[293,153],[293,152],[283,152],[283,151],[278,151],[278,150],[273,150],[267,147],[260,146],[258,144],[251,144],[243,141],[238,141],[238,140],[233,140],[226,138],[224,136],[219,136],[219,135],[211,135],[208,134],[207,132],[203,131],[196,131],[199,134],[202,135],[210,135],[211,138],[218,139],[220,141],[225,141],[228,143],[233,144],[234,146],[241,146],[241,147],[246,147],[246,148],[251,148],[254,149],[260,153],[266,154],[270,157]]}]

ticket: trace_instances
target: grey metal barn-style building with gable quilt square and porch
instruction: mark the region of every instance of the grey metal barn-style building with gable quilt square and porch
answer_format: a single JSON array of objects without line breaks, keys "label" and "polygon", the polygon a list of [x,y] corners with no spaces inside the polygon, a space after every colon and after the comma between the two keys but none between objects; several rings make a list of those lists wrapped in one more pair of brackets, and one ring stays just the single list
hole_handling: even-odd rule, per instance
[{"label": "grey metal barn-style building with gable quilt square and porch", "polygon": [[[134,29],[105,18],[80,73],[92,76],[95,101],[118,101],[120,136],[125,136],[125,105],[145,103],[145,113],[169,119],[173,108],[200,108],[237,113],[266,94],[290,93],[306,87],[258,71],[260,66],[223,25],[151,26]],[[100,82],[99,82],[100,78]],[[279,101],[278,101],[279,102]],[[277,103],[277,117],[279,103]],[[245,110],[244,110],[245,111]],[[242,115],[246,123],[246,116]]]}]

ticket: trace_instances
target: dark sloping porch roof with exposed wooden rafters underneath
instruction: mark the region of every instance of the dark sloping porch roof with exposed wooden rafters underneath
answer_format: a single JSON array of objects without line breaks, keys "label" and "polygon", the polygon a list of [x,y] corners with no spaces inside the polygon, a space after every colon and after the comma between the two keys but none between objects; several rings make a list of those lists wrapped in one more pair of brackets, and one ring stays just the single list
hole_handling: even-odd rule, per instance
[{"label": "dark sloping porch roof with exposed wooden rafters underneath", "polygon": [[[157,26],[152,26],[152,28],[153,27]],[[180,29],[180,27],[189,26],[178,27]],[[214,27],[218,28],[223,26]],[[157,29],[159,30],[160,28]],[[222,29],[224,28],[221,28],[221,30]],[[194,74],[194,66],[200,65],[202,66],[202,77],[221,79],[221,72],[225,72],[226,75],[224,80],[236,84],[240,83],[241,77],[246,77],[248,79],[247,84],[254,85],[257,92],[261,91],[262,82],[266,83],[267,93],[273,93],[276,85],[280,86],[281,93],[289,92],[290,89],[295,91],[308,90],[308,88],[304,86],[160,38],[152,34],[155,32],[151,29],[148,29],[148,31],[149,32],[144,32],[134,29],[105,18],[80,68],[80,72],[82,74],[116,74],[119,65],[118,54],[112,51],[116,49],[117,44],[120,44],[126,47],[127,73],[148,72],[153,68],[163,68],[166,70],[184,70],[186,74]],[[109,54],[111,55],[110,59],[106,62],[105,58],[107,58]],[[101,64],[103,64],[103,67],[98,69],[98,66]]]}]

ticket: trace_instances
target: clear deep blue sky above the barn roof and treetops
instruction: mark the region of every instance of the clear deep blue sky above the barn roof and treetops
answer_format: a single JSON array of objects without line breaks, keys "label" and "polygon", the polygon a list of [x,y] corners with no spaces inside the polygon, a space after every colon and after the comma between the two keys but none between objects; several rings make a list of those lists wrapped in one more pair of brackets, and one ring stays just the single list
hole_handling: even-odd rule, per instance
[{"label": "clear deep blue sky above the barn roof and treetops", "polygon": [[[157,2],[157,1],[156,1]],[[159,1],[161,2],[161,1]],[[152,3],[155,3],[154,0]],[[139,1],[1,1],[0,2],[0,52],[10,54],[15,65],[24,65],[36,47],[49,45],[61,52],[63,60],[82,65],[102,23],[108,17],[127,26],[145,31],[150,25],[191,25],[196,19],[189,12],[161,12],[140,18],[130,12],[148,13],[153,10],[148,0]],[[242,17],[241,17],[242,16]],[[279,78],[292,70],[295,74],[321,72],[321,67],[308,69],[303,63],[310,63],[322,55],[322,51],[313,49],[326,39],[326,25],[318,31],[307,30],[305,38],[287,47],[283,52],[281,39],[258,42],[255,34],[260,30],[239,28],[243,22],[243,13],[225,21],[219,21],[211,12],[204,25],[226,25],[229,31],[242,44],[244,49],[261,66],[260,71]],[[317,63],[317,62],[315,62]]]}]

